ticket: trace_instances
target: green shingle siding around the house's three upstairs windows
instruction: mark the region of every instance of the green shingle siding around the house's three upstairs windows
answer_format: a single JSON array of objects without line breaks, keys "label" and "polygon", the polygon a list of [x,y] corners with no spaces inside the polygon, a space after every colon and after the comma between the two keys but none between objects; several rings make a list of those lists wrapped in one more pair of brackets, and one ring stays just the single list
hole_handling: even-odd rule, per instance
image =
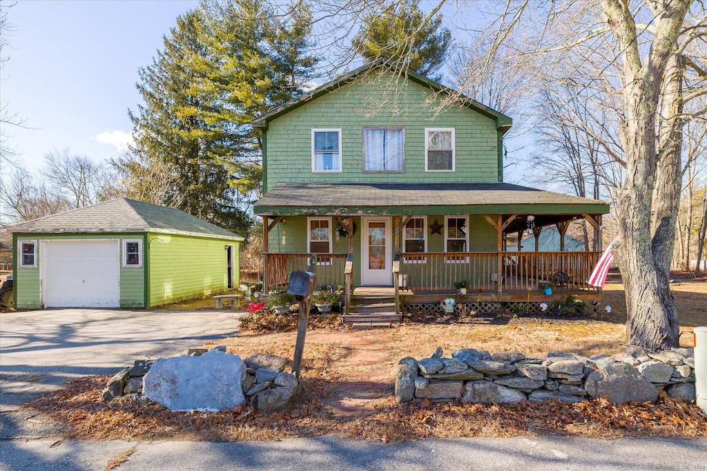
[{"label": "green shingle siding around the house's three upstairs windows", "polygon": [[[496,121],[458,105],[437,113],[438,105],[419,83],[399,78],[391,90],[377,73],[322,95],[269,123],[264,189],[279,182],[498,181]],[[404,172],[363,172],[363,128],[371,126],[404,127]],[[312,172],[317,128],[341,128],[341,173]],[[455,129],[455,172],[425,172],[425,128]]]}]

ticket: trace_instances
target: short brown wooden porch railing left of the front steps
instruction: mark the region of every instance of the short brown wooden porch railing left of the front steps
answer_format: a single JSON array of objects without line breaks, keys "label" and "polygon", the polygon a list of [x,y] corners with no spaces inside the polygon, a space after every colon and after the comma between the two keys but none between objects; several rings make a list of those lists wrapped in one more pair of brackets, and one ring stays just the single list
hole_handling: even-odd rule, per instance
[{"label": "short brown wooden porch railing left of the front steps", "polygon": [[[344,285],[346,254],[316,254],[317,285]],[[312,254],[264,254],[264,292],[286,287],[293,270],[306,270]]]}]

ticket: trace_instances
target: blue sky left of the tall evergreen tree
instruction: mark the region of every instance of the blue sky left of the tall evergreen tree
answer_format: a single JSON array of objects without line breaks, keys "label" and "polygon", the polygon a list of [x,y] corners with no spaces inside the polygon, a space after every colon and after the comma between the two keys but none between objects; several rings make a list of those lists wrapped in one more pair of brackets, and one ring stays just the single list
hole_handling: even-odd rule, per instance
[{"label": "blue sky left of the tall evergreen tree", "polygon": [[197,3],[20,0],[8,8],[15,32],[3,51],[10,59],[0,101],[35,128],[7,128],[26,167],[67,147],[93,160],[117,156],[132,130],[127,110],[140,102],[138,68],[151,63],[175,18]]}]

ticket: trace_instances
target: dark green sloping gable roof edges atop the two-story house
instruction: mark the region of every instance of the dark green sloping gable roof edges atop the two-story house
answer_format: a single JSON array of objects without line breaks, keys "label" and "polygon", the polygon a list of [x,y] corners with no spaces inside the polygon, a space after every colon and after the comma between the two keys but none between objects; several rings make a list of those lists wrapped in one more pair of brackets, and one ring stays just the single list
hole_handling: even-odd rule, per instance
[{"label": "dark green sloping gable roof edges atop the two-story house", "polygon": [[[324,85],[321,85],[320,87],[315,88],[314,90],[311,90],[308,93],[300,95],[299,97],[286,102],[284,105],[271,108],[267,113],[262,114],[262,116],[259,116],[253,121],[251,121],[251,124],[254,128],[257,129],[268,129],[269,121],[279,118],[283,114],[287,114],[293,109],[297,109],[298,107],[305,105],[305,103],[315,100],[322,95],[332,93],[334,90],[337,90],[338,88],[341,88],[344,85],[354,83],[359,77],[365,76],[366,74],[378,68],[385,70],[386,67],[380,61],[373,61],[370,64],[358,67],[353,71],[350,71],[349,73],[344,73],[338,78],[335,78],[333,81],[325,83]],[[457,102],[460,102],[461,105],[473,109],[474,111],[479,112],[480,114],[483,114],[484,116],[495,120],[496,129],[502,131],[503,133],[508,131],[508,129],[510,129],[510,126],[513,125],[513,119],[511,119],[510,117],[507,117],[501,112],[497,112],[491,107],[482,105],[476,100],[472,100],[471,98],[462,95],[453,88],[450,88],[446,85],[442,85],[441,83],[433,81],[425,76],[421,76],[419,73],[411,71],[409,68],[406,68],[404,70],[404,74],[414,83],[418,83],[419,85],[423,85],[426,88],[430,88],[436,93],[443,93],[445,95],[454,97],[455,100],[457,100]]]}]

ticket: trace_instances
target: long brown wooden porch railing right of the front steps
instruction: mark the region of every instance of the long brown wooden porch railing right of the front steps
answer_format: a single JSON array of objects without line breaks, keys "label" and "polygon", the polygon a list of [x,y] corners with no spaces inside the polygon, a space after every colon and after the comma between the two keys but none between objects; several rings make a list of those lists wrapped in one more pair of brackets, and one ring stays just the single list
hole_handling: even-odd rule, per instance
[{"label": "long brown wooden porch railing right of the front steps", "polygon": [[[567,275],[566,290],[597,290],[587,284],[600,252],[459,252],[400,254],[404,288],[449,291],[468,280],[471,290],[537,290],[551,285],[553,276]],[[498,261],[501,259],[501,275]]]}]

